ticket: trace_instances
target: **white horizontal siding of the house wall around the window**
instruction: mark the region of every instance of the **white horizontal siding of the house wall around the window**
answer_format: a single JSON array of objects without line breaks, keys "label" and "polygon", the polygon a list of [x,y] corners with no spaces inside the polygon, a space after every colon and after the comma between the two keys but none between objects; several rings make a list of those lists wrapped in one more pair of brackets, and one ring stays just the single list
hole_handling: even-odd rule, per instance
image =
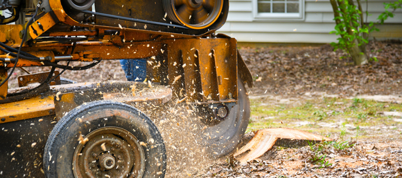
[{"label": "white horizontal siding of the house wall around the window", "polygon": [[[229,0],[227,22],[218,32],[235,37],[240,42],[268,43],[331,43],[338,38],[329,34],[335,27],[333,10],[329,0],[304,0],[302,19],[258,19],[255,18],[253,1]],[[369,0],[368,21],[377,21],[384,11],[385,0]],[[361,1],[363,11],[366,1]],[[365,17],[366,18],[366,17]],[[394,12],[394,18],[378,26],[380,32],[372,33],[376,39],[402,39],[402,10]]]}]

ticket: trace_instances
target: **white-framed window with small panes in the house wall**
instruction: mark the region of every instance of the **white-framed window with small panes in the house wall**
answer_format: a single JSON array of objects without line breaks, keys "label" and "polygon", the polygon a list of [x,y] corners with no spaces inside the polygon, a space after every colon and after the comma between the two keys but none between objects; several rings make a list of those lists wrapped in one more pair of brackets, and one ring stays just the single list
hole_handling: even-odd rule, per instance
[{"label": "white-framed window with small panes in the house wall", "polygon": [[304,19],[304,0],[254,0],[256,19]]}]

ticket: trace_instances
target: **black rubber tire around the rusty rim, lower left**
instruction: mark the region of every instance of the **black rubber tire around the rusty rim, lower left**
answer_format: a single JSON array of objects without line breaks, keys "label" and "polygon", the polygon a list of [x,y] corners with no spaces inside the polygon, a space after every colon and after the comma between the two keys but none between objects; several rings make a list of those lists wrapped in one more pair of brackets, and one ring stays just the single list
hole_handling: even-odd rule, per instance
[{"label": "black rubber tire around the rusty rim, lower left", "polygon": [[[164,177],[166,150],[157,127],[136,108],[116,101],[86,103],[60,119],[51,131],[44,149],[46,177],[74,177],[72,163],[79,135],[88,135],[104,127],[123,128],[146,143],[145,146],[141,144],[146,164],[143,177]],[[153,143],[150,143],[152,139]]]}]

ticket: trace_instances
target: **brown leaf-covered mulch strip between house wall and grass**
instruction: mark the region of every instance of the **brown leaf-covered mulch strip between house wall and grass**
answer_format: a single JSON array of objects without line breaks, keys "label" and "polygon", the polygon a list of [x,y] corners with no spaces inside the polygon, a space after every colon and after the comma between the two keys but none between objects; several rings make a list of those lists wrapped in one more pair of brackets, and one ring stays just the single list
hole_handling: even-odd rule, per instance
[{"label": "brown leaf-covered mulch strip between house wall and grass", "polygon": [[345,96],[402,93],[401,41],[371,41],[369,57],[377,61],[365,66],[354,66],[347,53],[334,52],[330,45],[240,51],[256,78],[251,95],[303,95],[313,91]]}]

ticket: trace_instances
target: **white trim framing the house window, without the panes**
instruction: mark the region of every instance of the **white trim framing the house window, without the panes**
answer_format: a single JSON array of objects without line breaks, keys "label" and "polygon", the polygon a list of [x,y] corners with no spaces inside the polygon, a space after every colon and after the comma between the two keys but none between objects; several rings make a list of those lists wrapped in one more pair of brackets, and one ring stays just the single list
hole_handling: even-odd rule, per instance
[{"label": "white trim framing the house window, without the panes", "polygon": [[254,21],[304,21],[304,0],[299,0],[299,13],[259,13],[258,0],[252,0]]}]

